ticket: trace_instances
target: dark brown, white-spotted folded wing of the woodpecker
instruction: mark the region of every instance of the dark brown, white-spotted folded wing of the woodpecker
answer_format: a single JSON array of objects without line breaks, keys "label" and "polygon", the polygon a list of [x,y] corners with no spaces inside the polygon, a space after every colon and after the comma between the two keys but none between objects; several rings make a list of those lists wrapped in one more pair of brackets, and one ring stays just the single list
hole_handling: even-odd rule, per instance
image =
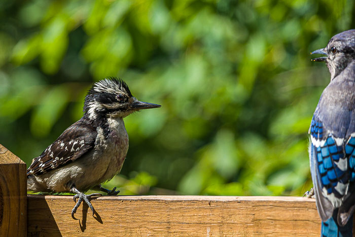
[{"label": "dark brown, white-spotted folded wing of the woodpecker", "polygon": [[96,129],[81,120],[68,127],[59,138],[32,160],[28,175],[40,175],[73,162],[94,147]]}]

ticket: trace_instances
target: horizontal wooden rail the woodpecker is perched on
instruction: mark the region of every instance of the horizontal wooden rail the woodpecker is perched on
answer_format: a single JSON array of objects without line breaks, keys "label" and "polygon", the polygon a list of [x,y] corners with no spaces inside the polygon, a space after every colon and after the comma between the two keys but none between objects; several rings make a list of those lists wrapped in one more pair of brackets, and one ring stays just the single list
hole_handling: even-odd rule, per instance
[{"label": "horizontal wooden rail the woodpecker is perched on", "polygon": [[28,236],[319,236],[314,199],[103,196],[70,216],[73,196],[28,195]]}]

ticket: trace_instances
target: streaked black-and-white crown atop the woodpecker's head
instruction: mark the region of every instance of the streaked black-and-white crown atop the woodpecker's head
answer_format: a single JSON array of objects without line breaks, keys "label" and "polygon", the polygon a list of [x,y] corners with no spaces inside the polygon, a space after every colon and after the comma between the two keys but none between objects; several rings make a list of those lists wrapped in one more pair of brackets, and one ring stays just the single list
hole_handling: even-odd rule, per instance
[{"label": "streaked black-and-white crown atop the woodpecker's head", "polygon": [[129,90],[127,84],[120,78],[109,77],[101,81],[96,82],[89,93],[125,93],[128,96],[132,96],[131,91]]}]

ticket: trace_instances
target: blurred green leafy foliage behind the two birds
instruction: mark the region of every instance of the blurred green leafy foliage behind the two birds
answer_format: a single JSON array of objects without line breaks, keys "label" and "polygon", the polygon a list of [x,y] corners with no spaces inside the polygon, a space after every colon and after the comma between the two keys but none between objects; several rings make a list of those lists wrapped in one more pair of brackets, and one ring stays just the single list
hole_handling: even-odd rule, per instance
[{"label": "blurred green leafy foliage behind the two birds", "polygon": [[27,165],[94,81],[161,104],[125,119],[122,194],[301,195],[324,64],[353,1],[0,2],[0,143]]}]

